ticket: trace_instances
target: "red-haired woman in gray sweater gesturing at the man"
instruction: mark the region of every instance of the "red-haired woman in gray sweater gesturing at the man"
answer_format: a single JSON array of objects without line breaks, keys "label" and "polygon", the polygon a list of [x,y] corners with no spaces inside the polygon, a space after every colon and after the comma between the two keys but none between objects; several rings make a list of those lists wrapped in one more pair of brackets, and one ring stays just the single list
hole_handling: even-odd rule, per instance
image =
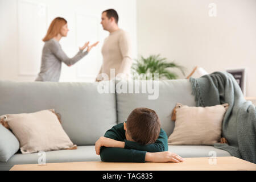
[{"label": "red-haired woman in gray sweater gesturing at the man", "polygon": [[[59,81],[61,62],[68,66],[75,64],[90,52],[90,49],[98,44],[98,42],[89,46],[89,42],[85,43],[83,47],[79,48],[79,52],[69,58],[61,49],[59,44],[60,39],[68,34],[67,20],[57,17],[52,20],[47,34],[43,39],[44,47],[42,53],[42,62],[40,73],[35,81]],[[87,47],[87,50],[84,49]],[[84,52],[83,52],[84,51]]]}]

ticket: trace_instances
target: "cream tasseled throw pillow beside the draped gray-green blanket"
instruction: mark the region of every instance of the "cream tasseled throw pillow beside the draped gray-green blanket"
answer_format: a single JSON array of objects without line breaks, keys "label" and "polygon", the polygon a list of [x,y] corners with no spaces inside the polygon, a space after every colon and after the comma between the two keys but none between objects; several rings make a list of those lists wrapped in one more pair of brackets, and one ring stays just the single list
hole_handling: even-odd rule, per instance
[{"label": "cream tasseled throw pillow beside the draped gray-green blanket", "polygon": [[212,145],[221,138],[222,121],[228,104],[210,107],[189,107],[177,103],[174,111],[174,132],[168,144]]}]

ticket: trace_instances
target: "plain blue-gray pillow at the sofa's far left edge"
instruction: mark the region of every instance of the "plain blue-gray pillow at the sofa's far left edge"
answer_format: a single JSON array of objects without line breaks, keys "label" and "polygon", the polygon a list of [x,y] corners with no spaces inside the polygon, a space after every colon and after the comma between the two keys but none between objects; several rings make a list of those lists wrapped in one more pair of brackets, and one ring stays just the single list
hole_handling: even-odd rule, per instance
[{"label": "plain blue-gray pillow at the sofa's far left edge", "polygon": [[0,162],[7,162],[18,150],[18,139],[0,124]]}]

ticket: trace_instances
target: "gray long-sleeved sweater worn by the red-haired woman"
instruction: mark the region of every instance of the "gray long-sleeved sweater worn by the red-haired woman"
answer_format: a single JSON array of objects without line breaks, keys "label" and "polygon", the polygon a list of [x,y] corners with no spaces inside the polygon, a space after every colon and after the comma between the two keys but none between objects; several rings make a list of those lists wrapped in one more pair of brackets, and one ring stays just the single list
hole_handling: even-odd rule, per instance
[{"label": "gray long-sleeved sweater worn by the red-haired woman", "polygon": [[61,62],[72,65],[87,54],[87,51],[80,50],[74,57],[69,58],[57,40],[52,38],[46,41],[43,47],[40,73],[35,81],[59,81]]}]

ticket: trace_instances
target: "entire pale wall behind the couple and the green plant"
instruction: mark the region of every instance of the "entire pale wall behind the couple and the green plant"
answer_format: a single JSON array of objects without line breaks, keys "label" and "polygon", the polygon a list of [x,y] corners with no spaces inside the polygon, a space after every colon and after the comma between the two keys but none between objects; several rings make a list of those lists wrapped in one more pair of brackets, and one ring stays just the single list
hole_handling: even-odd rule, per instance
[{"label": "entire pale wall behind the couple and the green plant", "polygon": [[[216,17],[208,14],[212,2]],[[60,44],[69,57],[88,40],[100,44],[72,67],[63,64],[60,81],[93,81],[108,36],[101,12],[109,8],[117,10],[119,27],[129,32],[134,58],[160,53],[186,67],[186,76],[196,65],[209,73],[246,68],[246,96],[256,96],[255,0],[0,0],[0,79],[34,81],[42,38],[51,20],[63,16],[70,31]]]}]

